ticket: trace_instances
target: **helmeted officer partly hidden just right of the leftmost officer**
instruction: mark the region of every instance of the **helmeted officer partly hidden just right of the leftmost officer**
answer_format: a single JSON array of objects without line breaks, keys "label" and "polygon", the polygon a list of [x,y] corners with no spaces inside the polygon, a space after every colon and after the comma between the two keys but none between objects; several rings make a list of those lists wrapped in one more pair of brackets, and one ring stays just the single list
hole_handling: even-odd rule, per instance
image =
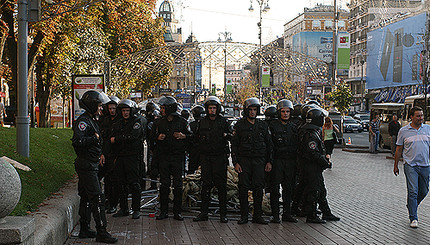
[{"label": "helmeted officer partly hidden just right of the leftmost officer", "polygon": [[112,144],[109,136],[113,130],[113,124],[118,120],[116,107],[118,106],[119,98],[110,96],[110,101],[103,105],[103,117],[100,119],[100,127],[102,130],[103,150],[102,153],[105,157],[105,164],[99,169],[99,179],[104,178],[104,191],[107,199],[106,213],[115,213],[116,206],[112,193],[113,193],[113,179],[112,170],[114,169],[114,155],[112,151]]}]

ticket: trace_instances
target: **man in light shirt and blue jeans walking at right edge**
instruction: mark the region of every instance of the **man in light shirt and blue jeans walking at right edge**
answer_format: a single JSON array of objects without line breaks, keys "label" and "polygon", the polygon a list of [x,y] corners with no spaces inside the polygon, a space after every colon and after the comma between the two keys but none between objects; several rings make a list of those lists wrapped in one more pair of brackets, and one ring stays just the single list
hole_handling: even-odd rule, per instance
[{"label": "man in light shirt and blue jeans walking at right edge", "polygon": [[403,156],[410,227],[418,228],[418,205],[429,191],[430,125],[423,124],[424,113],[421,107],[412,107],[409,116],[411,122],[402,127],[397,136],[394,175],[399,174],[398,165]]}]

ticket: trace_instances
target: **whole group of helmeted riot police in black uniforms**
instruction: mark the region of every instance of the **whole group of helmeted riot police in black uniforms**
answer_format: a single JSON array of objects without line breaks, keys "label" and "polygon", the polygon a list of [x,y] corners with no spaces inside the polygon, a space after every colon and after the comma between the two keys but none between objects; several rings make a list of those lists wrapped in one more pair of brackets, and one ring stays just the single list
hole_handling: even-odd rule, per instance
[{"label": "whole group of helmeted riot police in black uniforms", "polygon": [[[187,159],[188,173],[201,169],[201,212],[193,219],[196,222],[208,220],[213,187],[218,191],[220,221],[228,222],[226,185],[230,156],[239,176],[238,224],[248,222],[249,190],[253,199],[252,222],[269,222],[262,217],[265,189],[270,192],[270,222],[297,222],[294,216],[300,215],[312,223],[339,220],[331,213],[326,199],[322,172],[331,163],[325,154],[321,127],[327,112],[317,103],[293,106],[291,101],[282,99],[267,108],[266,120],[261,120],[257,118],[261,110],[259,100],[249,98],[243,104],[243,117],[234,127],[222,115],[221,101],[216,96],[207,97],[203,106],[191,109],[194,121],[190,123],[189,111],[182,110],[171,96],[161,97],[158,104],[148,102],[144,115],[134,101],[96,91],[87,91],[79,104],[85,113],[74,123],[72,142],[77,154],[81,238],[96,237],[100,242],[115,243],[117,239],[106,231],[105,213],[114,213],[114,217],[131,214],[138,219],[146,175],[151,179],[150,188],[156,188],[158,178],[160,182],[157,220],[169,217],[171,188],[173,218],[183,220],[182,178]],[[132,212],[128,207],[129,194]],[[91,213],[97,231],[90,229]]]}]

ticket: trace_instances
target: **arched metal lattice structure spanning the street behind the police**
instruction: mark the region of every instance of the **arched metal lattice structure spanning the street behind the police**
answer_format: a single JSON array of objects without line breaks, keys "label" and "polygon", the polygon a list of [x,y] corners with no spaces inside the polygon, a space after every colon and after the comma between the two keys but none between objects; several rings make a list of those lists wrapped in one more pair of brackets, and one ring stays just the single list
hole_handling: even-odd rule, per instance
[{"label": "arched metal lattice structure spanning the street behind the police", "polygon": [[[256,64],[261,57],[262,65],[270,66],[288,75],[324,79],[327,63],[299,52],[273,46],[261,50],[257,44],[227,42],[227,64]],[[112,81],[141,77],[143,72],[158,71],[165,67],[190,66],[201,61],[206,67],[224,66],[223,42],[194,42],[170,44],[139,51],[111,61]]]}]

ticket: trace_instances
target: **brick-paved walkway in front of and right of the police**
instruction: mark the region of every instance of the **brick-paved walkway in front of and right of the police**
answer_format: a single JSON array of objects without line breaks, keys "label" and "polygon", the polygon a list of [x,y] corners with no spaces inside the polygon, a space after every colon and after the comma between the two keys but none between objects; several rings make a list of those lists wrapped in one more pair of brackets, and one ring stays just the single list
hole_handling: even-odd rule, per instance
[{"label": "brick-paved walkway in front of and right of the police", "polygon": [[[216,218],[196,223],[191,218],[181,222],[108,215],[108,230],[118,244],[429,244],[429,197],[418,209],[419,228],[410,228],[403,168],[395,177],[387,155],[335,149],[334,167],[324,176],[331,209],[341,217],[338,222],[307,224],[300,218],[297,224],[238,225]],[[73,237],[78,230],[66,244],[97,244]]]}]

